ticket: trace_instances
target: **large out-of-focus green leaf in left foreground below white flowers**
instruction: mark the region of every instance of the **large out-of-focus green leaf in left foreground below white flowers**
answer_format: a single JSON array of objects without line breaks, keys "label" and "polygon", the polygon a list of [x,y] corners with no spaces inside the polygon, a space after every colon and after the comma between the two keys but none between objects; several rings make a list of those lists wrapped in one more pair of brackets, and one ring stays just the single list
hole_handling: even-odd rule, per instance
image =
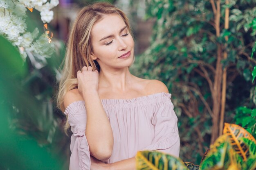
[{"label": "large out-of-focus green leaf in left foreground below white flowers", "polygon": [[[18,102],[27,110],[36,111],[36,106],[31,100],[29,91],[22,90],[20,79],[27,73],[27,65],[11,43],[0,36],[0,169],[8,170],[59,170],[61,160],[47,152],[45,148],[38,146],[32,139],[26,139],[13,130],[9,121],[11,112]],[[20,96],[22,94],[22,96]],[[22,99],[22,100],[21,100]],[[15,108],[16,107],[16,108]],[[40,111],[37,110],[36,113]]]}]

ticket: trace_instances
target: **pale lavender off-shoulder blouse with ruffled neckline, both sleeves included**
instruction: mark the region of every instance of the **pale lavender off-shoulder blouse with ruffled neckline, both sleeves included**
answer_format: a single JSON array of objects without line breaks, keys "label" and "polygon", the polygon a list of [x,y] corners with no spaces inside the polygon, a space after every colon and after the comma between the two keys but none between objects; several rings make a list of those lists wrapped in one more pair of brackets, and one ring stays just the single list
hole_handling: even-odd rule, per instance
[{"label": "pale lavender off-shoulder blouse with ruffled neckline, both sleeves included", "polygon": [[[171,94],[162,92],[132,99],[102,99],[114,136],[112,155],[105,163],[135,157],[139,150],[161,150],[178,157],[180,137],[170,98]],[[70,170],[90,170],[84,101],[71,103],[64,113],[73,132]]]}]

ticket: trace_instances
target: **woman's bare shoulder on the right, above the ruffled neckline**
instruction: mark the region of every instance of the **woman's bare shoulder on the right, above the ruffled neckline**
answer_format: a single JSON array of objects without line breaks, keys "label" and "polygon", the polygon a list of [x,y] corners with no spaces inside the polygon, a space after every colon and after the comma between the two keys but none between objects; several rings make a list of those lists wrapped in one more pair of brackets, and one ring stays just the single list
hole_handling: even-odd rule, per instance
[{"label": "woman's bare shoulder on the right, above the ruffled neckline", "polygon": [[146,91],[148,94],[155,94],[155,93],[169,93],[168,88],[166,85],[159,80],[147,80],[146,81]]}]

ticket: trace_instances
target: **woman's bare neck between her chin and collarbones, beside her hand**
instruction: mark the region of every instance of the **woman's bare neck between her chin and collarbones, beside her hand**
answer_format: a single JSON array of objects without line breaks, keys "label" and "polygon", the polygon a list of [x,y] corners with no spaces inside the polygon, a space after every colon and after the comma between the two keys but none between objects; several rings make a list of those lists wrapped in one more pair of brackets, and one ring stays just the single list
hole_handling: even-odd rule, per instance
[{"label": "woman's bare neck between her chin and collarbones, beside her hand", "polygon": [[101,70],[99,73],[99,87],[108,87],[118,91],[126,91],[132,82],[132,74],[127,68]]}]

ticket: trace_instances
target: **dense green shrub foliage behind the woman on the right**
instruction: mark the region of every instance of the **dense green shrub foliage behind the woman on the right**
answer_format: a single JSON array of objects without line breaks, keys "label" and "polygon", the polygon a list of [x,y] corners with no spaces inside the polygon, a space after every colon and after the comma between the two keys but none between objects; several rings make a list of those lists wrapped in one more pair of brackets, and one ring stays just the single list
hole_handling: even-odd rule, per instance
[{"label": "dense green shrub foliage behind the woman on the right", "polygon": [[[239,106],[254,108],[250,97],[256,94],[251,83],[256,65],[251,58],[256,41],[256,2],[230,0],[226,5],[221,0],[220,37],[216,36],[210,1],[147,0],[146,5],[146,18],[156,19],[151,45],[135,59],[131,71],[167,85],[179,117],[180,157],[199,164],[211,137],[213,104],[205,77],[211,81],[214,78],[217,44],[228,54],[222,59],[222,67],[227,68],[225,122],[234,122],[238,115],[243,117],[241,111],[236,112]],[[224,29],[226,7],[230,9],[229,29]],[[251,118],[247,125],[255,126],[255,117],[250,113],[247,117]]]}]

